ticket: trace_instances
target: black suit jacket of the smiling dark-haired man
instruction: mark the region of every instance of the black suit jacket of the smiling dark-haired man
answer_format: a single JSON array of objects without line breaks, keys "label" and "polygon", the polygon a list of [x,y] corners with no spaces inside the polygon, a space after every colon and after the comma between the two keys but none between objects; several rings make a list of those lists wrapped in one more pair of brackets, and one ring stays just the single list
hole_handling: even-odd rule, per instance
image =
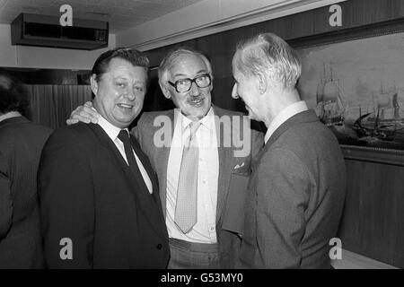
[{"label": "black suit jacket of the smiling dark-haired man", "polygon": [[[168,235],[157,180],[145,154],[136,153],[153,183],[153,195],[101,126],[79,123],[49,137],[39,170],[48,267],[166,267]],[[59,257],[67,247],[59,245],[64,238],[73,242],[71,260]]]}]

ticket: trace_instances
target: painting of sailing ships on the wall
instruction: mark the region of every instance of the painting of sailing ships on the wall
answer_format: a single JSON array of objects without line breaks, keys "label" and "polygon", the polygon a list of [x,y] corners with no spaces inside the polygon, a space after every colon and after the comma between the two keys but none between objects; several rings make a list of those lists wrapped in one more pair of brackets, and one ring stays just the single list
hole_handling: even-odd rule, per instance
[{"label": "painting of sailing ships on the wall", "polygon": [[303,100],[339,143],[404,150],[404,33],[298,53]]}]

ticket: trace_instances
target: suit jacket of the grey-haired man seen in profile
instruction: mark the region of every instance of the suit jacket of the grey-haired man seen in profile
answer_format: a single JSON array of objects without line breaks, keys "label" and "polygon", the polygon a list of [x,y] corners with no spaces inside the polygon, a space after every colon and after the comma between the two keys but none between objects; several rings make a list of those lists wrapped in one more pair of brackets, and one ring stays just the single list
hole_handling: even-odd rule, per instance
[{"label": "suit jacket of the grey-haired man seen in profile", "polygon": [[253,167],[240,266],[330,268],[345,189],[335,136],[312,110],[289,118]]}]

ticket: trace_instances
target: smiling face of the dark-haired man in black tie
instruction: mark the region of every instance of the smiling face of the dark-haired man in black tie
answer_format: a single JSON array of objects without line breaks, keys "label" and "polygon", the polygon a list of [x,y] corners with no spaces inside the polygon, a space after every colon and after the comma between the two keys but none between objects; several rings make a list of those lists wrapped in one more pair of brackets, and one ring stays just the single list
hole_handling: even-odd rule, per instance
[{"label": "smiling face of the dark-haired man in black tie", "polygon": [[137,117],[145,100],[147,74],[119,57],[112,58],[99,82],[92,75],[94,108],[110,124],[125,128]]}]

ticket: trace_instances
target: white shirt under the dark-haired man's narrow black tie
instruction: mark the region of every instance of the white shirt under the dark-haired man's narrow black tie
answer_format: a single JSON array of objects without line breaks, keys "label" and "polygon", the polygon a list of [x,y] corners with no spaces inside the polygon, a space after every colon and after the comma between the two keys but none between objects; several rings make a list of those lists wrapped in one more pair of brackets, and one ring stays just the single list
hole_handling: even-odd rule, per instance
[{"label": "white shirt under the dark-haired man's narrow black tie", "polygon": [[[124,160],[127,161],[127,154],[125,153],[124,144],[118,138],[120,128],[117,126],[113,126],[108,120],[106,120],[101,115],[98,118],[98,125],[100,125],[102,129],[105,131],[105,133],[107,133],[107,135],[110,136],[110,139],[112,140],[112,142],[115,143]],[[127,130],[127,132],[129,131]],[[149,190],[149,193],[152,194],[153,193],[152,181],[150,180],[149,175],[147,174],[147,171],[145,170],[145,167],[142,164],[142,161],[140,161],[139,158],[137,157],[136,152],[133,149],[132,152],[135,154],[137,166],[139,167],[140,173],[142,173],[142,177],[145,180],[145,186]],[[127,165],[129,164],[127,163]]]}]

